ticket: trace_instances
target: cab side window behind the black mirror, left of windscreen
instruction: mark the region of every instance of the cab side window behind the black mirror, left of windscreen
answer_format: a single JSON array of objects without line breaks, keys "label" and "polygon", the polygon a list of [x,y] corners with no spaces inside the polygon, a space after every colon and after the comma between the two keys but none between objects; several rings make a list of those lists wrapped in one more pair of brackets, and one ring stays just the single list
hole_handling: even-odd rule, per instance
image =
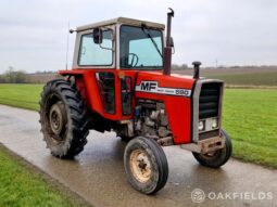
[{"label": "cab side window behind the black mirror, left of windscreen", "polygon": [[78,55],[78,65],[80,66],[108,66],[113,64],[113,41],[112,31],[103,31],[103,41],[101,44],[93,42],[92,34],[85,34],[80,38],[80,49]]}]

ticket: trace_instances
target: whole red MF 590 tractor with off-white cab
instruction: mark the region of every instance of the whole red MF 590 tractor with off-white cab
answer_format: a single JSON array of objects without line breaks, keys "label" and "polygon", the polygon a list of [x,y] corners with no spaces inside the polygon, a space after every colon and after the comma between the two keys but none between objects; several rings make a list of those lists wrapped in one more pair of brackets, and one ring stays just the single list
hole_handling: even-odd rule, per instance
[{"label": "whole red MF 590 tractor with off-white cab", "polygon": [[203,166],[218,168],[231,155],[222,129],[224,83],[171,74],[173,39],[163,24],[118,17],[77,27],[72,70],[41,93],[40,124],[47,146],[73,158],[90,129],[115,131],[127,141],[124,167],[129,183],[153,194],[168,176],[162,146],[181,145]]}]

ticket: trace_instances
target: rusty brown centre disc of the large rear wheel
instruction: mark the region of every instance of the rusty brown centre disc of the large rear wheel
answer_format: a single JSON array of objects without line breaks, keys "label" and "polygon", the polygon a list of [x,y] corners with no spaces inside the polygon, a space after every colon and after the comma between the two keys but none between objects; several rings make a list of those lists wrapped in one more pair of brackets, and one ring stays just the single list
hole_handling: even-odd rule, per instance
[{"label": "rusty brown centre disc of the large rear wheel", "polygon": [[55,103],[49,113],[50,129],[55,135],[60,135],[65,126],[64,105]]}]

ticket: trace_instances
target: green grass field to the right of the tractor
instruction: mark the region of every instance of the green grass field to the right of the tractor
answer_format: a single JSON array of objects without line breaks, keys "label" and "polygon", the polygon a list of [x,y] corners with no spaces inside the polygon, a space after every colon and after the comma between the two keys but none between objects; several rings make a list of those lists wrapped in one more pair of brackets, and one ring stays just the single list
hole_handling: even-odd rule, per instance
[{"label": "green grass field to the right of the tractor", "polygon": [[227,89],[224,128],[234,157],[277,168],[277,90]]}]

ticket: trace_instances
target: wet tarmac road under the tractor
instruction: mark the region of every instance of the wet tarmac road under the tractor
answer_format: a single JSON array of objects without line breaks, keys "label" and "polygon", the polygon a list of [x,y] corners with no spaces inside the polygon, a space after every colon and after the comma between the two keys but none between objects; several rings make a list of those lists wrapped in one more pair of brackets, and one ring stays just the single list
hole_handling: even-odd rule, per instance
[{"label": "wet tarmac road under the tractor", "polygon": [[[0,142],[93,206],[277,206],[277,170],[236,159],[218,170],[209,169],[191,153],[167,146],[167,184],[147,196],[128,184],[123,167],[125,143],[114,133],[90,131],[85,151],[74,160],[61,160],[50,155],[39,129],[38,113],[0,105]],[[205,194],[193,194],[201,203],[191,198],[196,189]]]}]

